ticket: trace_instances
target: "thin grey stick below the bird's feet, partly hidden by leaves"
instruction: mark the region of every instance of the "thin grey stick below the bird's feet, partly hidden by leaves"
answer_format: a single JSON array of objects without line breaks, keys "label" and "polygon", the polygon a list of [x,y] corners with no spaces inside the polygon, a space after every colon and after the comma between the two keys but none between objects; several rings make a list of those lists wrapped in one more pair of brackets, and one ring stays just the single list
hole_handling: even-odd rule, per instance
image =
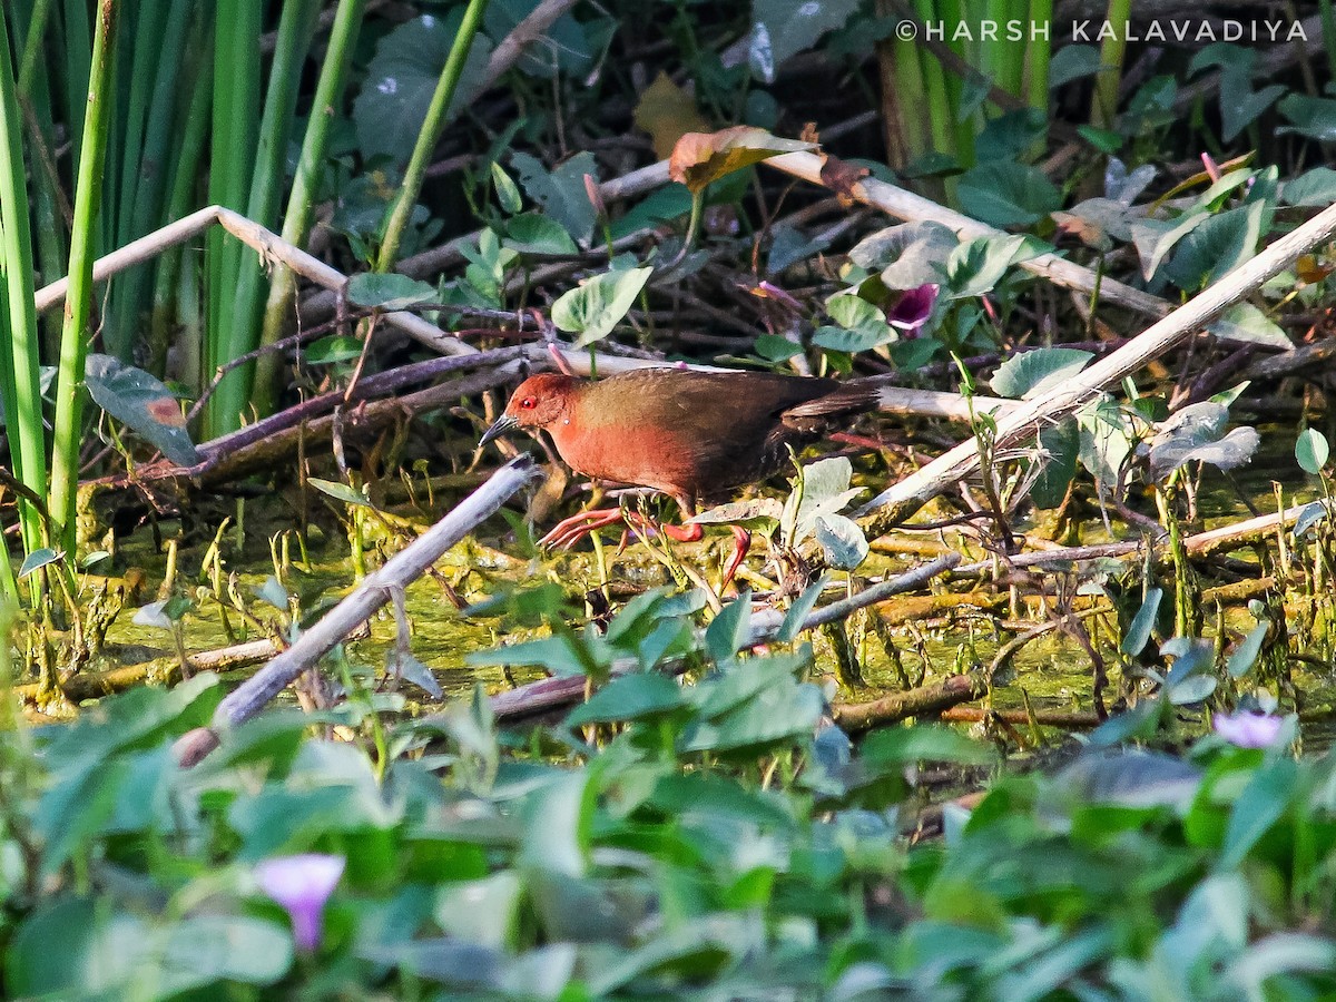
[{"label": "thin grey stick below the bird's feet, partly hidden by leaves", "polygon": [[[882,581],[880,584],[872,585],[850,599],[831,603],[830,605],[810,613],[807,619],[803,620],[803,625],[799,627],[799,631],[807,632],[816,629],[827,623],[847,619],[867,605],[875,605],[876,603],[886,601],[895,595],[922,588],[938,574],[950,570],[958,562],[961,562],[959,554],[949,553],[947,556],[934,560],[930,564],[907,570],[890,581]],[[745,647],[763,644],[772,639],[779,632],[784,617],[780,613],[771,609],[754,613],[748,624],[749,633]],[[627,659],[625,661],[613,664],[612,675],[625,675],[636,671],[636,668],[637,663]],[[564,707],[584,697],[588,681],[589,680],[584,676],[530,681],[516,689],[510,689],[509,692],[498,692],[493,696],[490,699],[492,713],[497,717],[497,720],[502,720],[505,717],[532,716],[533,713],[540,713],[556,707]]]}]

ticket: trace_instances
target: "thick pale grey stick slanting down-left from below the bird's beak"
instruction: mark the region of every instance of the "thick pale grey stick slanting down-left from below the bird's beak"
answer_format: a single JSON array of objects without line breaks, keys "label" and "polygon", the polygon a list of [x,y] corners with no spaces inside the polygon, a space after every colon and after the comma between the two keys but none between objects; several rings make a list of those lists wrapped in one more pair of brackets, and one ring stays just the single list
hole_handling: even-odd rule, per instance
[{"label": "thick pale grey stick slanting down-left from below the bird's beak", "polygon": [[441,554],[538,476],[538,468],[528,454],[498,469],[454,510],[390,557],[382,568],[367,574],[357,591],[325,613],[287,651],[228,693],[218,704],[211,727],[196,728],[176,741],[176,760],[184,767],[194,766],[216,748],[222,733],[258,713],[289,683],[366,623],[390,600],[394,588],[403,588],[426,573]]}]

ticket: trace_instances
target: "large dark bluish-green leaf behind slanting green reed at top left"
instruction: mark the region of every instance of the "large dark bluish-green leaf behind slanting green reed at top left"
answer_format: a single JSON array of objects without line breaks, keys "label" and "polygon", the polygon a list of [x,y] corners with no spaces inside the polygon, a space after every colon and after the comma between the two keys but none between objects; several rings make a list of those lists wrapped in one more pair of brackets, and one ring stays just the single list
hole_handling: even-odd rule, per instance
[{"label": "large dark bluish-green leaf behind slanting green reed at top left", "polygon": [[[456,7],[444,17],[414,17],[379,40],[353,103],[353,123],[365,159],[389,156],[395,163],[407,163],[462,21],[464,8]],[[492,43],[480,33],[450,99],[449,119],[477,98],[490,55]]]}]

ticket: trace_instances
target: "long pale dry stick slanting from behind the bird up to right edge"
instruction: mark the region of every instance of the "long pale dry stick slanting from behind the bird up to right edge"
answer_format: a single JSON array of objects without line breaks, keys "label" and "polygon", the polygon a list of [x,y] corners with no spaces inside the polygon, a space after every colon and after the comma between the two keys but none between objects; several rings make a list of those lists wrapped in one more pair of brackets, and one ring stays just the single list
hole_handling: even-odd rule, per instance
[{"label": "long pale dry stick slanting from behind the bird up to right edge", "polygon": [[[794,154],[788,154],[792,156]],[[1280,274],[1315,246],[1336,234],[1336,206],[1324,208],[1307,223],[1285,234],[1256,258],[1238,266],[1216,285],[1150,325],[1117,351],[1063,382],[1058,389],[1002,414],[997,421],[997,448],[1010,448],[1093,399],[1105,386],[1116,385],[1146,362],[1174,347],[1193,331],[1233,306],[1264,282]],[[978,469],[978,442],[969,438],[923,469],[894,484],[868,502],[858,514],[875,513],[872,536],[903,521],[950,485]]]}]

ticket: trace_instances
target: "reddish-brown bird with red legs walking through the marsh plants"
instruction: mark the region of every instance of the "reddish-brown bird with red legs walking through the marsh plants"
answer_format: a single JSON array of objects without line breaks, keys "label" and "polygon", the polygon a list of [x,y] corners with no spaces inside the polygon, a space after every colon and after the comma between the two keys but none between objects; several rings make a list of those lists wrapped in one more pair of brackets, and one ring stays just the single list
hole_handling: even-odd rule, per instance
[{"label": "reddish-brown bird with red legs walking through the marsh plants", "polygon": [[[874,410],[879,390],[875,379],[657,366],[603,379],[538,373],[520,383],[478,445],[514,430],[546,432],[576,473],[663,492],[685,521],[700,502],[782,469],[791,446],[816,441],[840,418]],[[621,518],[620,510],[585,512],[544,541],[569,545]],[[660,528],[677,540],[701,537],[699,524]],[[749,546],[744,529],[733,533],[737,550],[725,581]]]}]

